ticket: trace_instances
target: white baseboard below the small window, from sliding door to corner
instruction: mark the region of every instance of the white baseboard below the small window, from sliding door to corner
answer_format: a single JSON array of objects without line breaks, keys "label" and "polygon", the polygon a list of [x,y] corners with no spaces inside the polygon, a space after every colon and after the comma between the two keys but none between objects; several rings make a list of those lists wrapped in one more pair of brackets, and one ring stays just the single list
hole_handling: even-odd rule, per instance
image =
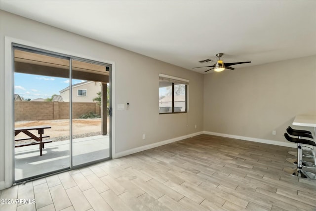
[{"label": "white baseboard below the small window, from sliding door to corner", "polygon": [[188,134],[188,135],[184,135],[184,136],[180,136],[180,137],[176,137],[176,138],[171,138],[171,139],[164,140],[164,141],[159,141],[157,143],[148,144],[148,145],[141,146],[141,147],[136,147],[136,148],[129,149],[129,150],[126,150],[126,151],[123,151],[123,152],[118,152],[112,157],[113,158],[119,158],[119,157],[123,157],[123,156],[126,156],[126,155],[131,155],[131,154],[134,154],[134,153],[137,153],[137,152],[141,152],[141,151],[144,151],[144,150],[152,149],[152,148],[155,148],[155,147],[158,147],[158,146],[162,146],[162,145],[165,145],[165,144],[169,144],[169,143],[172,143],[172,142],[175,142],[175,141],[180,141],[180,140],[183,140],[183,139],[186,139],[186,138],[191,138],[193,136],[200,135],[200,134],[203,134],[203,132],[200,131],[200,132],[196,132],[196,133],[192,133],[192,134]]}]

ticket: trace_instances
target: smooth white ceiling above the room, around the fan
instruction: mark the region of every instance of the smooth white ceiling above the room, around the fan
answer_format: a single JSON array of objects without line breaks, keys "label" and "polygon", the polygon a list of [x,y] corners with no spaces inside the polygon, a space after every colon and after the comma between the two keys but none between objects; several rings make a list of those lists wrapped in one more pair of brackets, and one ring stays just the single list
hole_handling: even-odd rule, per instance
[{"label": "smooth white ceiling above the room, around the fan", "polygon": [[199,73],[198,61],[219,52],[251,61],[236,69],[316,55],[315,0],[0,0],[0,9]]}]

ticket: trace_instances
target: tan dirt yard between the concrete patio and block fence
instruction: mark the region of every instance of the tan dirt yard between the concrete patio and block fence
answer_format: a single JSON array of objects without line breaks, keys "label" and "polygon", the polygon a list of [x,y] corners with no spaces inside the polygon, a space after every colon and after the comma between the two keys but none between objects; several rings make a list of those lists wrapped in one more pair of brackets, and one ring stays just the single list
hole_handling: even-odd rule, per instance
[{"label": "tan dirt yard between the concrete patio and block fence", "polygon": [[[42,121],[18,121],[15,127],[32,127],[32,126],[51,126],[50,129],[44,130],[44,135],[57,140],[69,138],[69,120],[42,120]],[[109,123],[108,123],[109,128]],[[101,134],[101,118],[96,119],[74,119],[73,135],[86,137],[89,134]],[[27,137],[25,134],[18,134],[16,138]]]}]

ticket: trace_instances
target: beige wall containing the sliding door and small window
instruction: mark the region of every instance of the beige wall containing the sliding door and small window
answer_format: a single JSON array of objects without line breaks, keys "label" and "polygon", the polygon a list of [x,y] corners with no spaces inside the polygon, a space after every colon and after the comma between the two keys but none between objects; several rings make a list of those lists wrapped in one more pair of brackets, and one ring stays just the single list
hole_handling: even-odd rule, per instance
[{"label": "beige wall containing the sliding door and small window", "polygon": [[[116,153],[202,131],[203,75],[176,67],[109,44],[97,42],[20,16],[0,11],[0,183],[4,181],[5,135],[5,62],[4,36],[36,43],[43,48],[71,52],[96,61],[115,62],[116,104],[129,102],[129,110],[115,111]],[[158,74],[190,80],[188,113],[158,114]],[[12,86],[11,86],[12,87]],[[8,88],[8,90],[11,89]],[[116,109],[117,105],[113,105]],[[197,125],[197,128],[194,126]],[[146,134],[146,139],[142,139]]]}]

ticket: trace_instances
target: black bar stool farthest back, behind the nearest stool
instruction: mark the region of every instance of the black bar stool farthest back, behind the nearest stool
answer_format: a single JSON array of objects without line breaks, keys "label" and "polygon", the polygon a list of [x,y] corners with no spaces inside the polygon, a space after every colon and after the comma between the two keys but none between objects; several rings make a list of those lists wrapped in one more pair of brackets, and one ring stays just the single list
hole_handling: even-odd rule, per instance
[{"label": "black bar stool farthest back, behind the nearest stool", "polygon": [[[301,137],[313,138],[313,136],[311,134],[304,132],[306,130],[293,130],[292,128],[289,127],[289,128],[286,129],[286,131],[290,135],[298,136],[299,139]],[[303,131],[303,132],[300,132],[300,131]],[[286,161],[289,162],[289,163],[295,164],[295,165],[297,165],[298,161],[300,161],[303,167],[315,168],[316,166],[315,166],[314,163],[308,162],[308,161],[303,161],[303,150],[302,150],[302,147],[303,146],[301,146],[301,153],[300,153],[301,157],[297,156],[297,158],[287,158]],[[312,156],[310,158],[314,158],[314,156]]]}]

